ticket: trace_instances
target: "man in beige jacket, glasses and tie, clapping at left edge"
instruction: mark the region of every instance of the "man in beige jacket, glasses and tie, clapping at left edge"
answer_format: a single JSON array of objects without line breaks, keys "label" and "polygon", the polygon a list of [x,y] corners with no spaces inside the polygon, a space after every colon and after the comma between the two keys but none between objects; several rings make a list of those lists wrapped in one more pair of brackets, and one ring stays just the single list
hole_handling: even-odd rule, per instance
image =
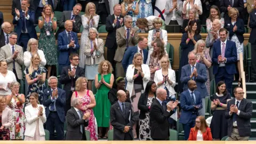
[{"label": "man in beige jacket, glasses and tie, clapping at left edge", "polygon": [[0,60],[5,60],[8,65],[8,70],[13,71],[16,79],[22,79],[23,65],[23,48],[17,43],[17,34],[11,33],[9,36],[9,44],[1,47]]}]

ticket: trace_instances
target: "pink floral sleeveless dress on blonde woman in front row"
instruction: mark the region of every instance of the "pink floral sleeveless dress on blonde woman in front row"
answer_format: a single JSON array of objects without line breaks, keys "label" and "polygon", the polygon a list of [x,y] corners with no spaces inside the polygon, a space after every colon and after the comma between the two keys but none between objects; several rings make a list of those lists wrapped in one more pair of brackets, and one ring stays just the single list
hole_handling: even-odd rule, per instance
[{"label": "pink floral sleeveless dress on blonde woman in front row", "polygon": [[[77,91],[75,91],[75,93],[76,93],[76,98],[77,98],[78,97]],[[84,97],[81,98],[81,101],[82,101],[82,107],[90,105],[91,97],[89,95],[89,90],[87,90],[86,95],[84,95]],[[88,111],[91,112],[91,115],[90,115],[90,118],[89,118],[89,125],[85,127],[85,130],[91,132],[91,135],[90,135],[91,140],[98,140],[96,130],[95,130],[95,117],[94,117],[94,114],[93,114],[93,110],[92,109],[87,109],[87,110],[82,110],[82,111],[83,111],[83,113],[86,113]]]}]

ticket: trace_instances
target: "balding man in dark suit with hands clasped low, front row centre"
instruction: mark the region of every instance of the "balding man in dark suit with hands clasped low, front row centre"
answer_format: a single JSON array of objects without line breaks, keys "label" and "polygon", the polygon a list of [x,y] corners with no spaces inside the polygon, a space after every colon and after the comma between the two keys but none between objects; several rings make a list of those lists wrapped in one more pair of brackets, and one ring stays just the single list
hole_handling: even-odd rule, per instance
[{"label": "balding man in dark suit with hands clasped low, front row centre", "polygon": [[110,108],[110,123],[114,127],[114,140],[133,140],[134,124],[132,105],[125,102],[126,93],[117,91],[118,101]]}]

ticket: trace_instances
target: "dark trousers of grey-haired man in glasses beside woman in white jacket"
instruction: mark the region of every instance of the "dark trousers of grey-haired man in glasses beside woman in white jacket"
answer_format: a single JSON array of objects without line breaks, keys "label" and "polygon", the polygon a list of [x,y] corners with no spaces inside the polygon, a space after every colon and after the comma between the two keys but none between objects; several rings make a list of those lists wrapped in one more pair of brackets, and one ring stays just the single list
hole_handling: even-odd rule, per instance
[{"label": "dark trousers of grey-haired man in glasses beside woman in white jacket", "polygon": [[[50,111],[46,121],[46,129],[50,132],[50,140],[64,139],[64,123],[60,121],[57,111]],[[57,139],[54,138],[54,130],[56,130]]]}]

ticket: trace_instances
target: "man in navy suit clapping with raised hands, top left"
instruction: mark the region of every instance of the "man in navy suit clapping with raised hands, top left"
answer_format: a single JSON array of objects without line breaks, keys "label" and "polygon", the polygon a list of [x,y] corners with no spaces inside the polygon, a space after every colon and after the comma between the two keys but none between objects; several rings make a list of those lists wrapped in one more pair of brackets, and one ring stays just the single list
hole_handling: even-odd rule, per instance
[{"label": "man in navy suit clapping with raised hands, top left", "polygon": [[13,25],[17,25],[18,44],[23,47],[23,52],[27,51],[27,44],[30,38],[37,39],[35,30],[35,12],[29,10],[29,0],[21,1],[21,9],[15,9]]}]

